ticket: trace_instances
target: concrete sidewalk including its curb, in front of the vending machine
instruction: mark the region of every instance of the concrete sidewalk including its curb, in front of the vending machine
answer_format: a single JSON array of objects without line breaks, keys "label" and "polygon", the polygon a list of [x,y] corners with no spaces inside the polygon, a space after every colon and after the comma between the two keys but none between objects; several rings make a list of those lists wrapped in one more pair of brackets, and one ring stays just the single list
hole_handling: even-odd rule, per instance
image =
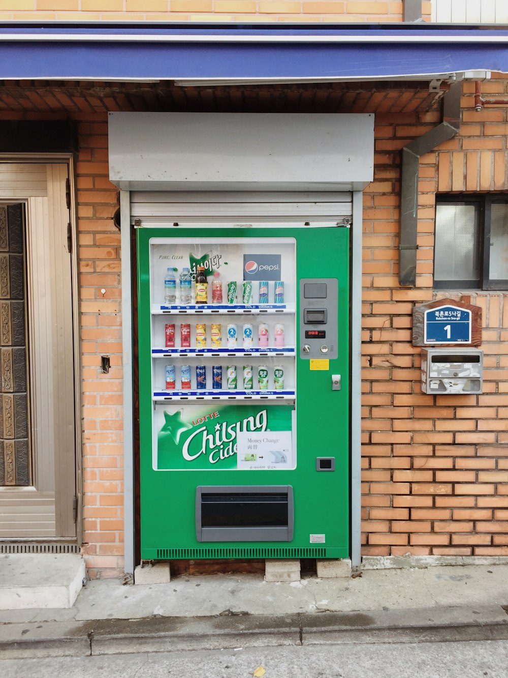
[{"label": "concrete sidewalk including its curb, in front of the vending machine", "polygon": [[169,584],[88,582],[67,610],[0,611],[2,658],[302,645],[508,639],[508,565],[262,575]]}]

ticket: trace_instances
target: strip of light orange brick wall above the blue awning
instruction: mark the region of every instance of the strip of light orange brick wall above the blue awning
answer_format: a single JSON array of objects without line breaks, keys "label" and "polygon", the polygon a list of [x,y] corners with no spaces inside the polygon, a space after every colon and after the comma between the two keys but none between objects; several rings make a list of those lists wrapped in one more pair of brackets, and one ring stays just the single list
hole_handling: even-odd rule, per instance
[{"label": "strip of light orange brick wall above the blue awning", "polygon": [[[402,0],[0,0],[0,20],[402,21]],[[431,2],[423,0],[430,20]]]}]

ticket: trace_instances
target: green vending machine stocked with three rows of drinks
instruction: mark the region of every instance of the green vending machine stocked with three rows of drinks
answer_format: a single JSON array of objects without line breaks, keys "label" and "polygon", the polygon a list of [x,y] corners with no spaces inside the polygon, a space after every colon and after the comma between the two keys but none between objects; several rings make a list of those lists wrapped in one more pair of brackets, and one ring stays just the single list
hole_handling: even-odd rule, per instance
[{"label": "green vending machine stocked with three rows of drinks", "polygon": [[137,229],[142,559],[349,556],[349,235]]}]

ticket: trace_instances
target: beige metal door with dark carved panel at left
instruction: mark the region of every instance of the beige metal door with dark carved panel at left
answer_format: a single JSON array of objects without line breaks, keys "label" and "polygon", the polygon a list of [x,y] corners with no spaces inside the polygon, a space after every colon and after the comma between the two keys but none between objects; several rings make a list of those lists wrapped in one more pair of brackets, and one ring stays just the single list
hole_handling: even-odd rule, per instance
[{"label": "beige metal door with dark carved panel at left", "polygon": [[[0,540],[75,538],[67,165],[6,166],[0,165]],[[26,183],[23,201],[8,200],[5,177],[12,176]]]}]

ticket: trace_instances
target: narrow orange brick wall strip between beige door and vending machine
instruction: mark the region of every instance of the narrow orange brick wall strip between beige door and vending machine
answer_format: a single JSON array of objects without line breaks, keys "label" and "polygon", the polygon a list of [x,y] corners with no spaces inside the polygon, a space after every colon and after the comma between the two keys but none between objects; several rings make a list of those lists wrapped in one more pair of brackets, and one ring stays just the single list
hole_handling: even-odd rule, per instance
[{"label": "narrow orange brick wall strip between beige door and vending machine", "polygon": [[[83,554],[92,578],[123,573],[120,233],[106,113],[79,121],[77,210],[83,365]],[[105,290],[104,294],[101,290]],[[111,368],[102,374],[101,356]]]}]

